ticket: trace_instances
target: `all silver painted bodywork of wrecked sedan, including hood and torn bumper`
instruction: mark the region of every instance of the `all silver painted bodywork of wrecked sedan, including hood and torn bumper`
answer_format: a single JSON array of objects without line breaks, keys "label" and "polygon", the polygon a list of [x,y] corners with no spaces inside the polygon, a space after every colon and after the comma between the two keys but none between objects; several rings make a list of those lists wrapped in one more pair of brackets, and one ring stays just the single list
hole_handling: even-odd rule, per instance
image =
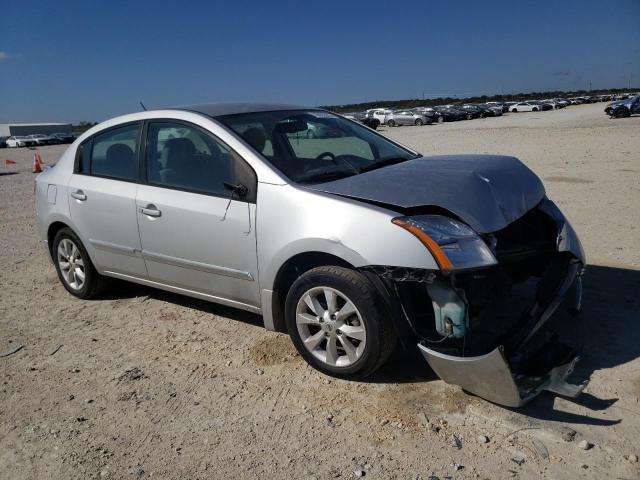
[{"label": "all silver painted bodywork of wrecked sedan, including hood and torn bumper", "polygon": [[[446,209],[477,232],[489,233],[540,205],[558,222],[565,222],[558,250],[571,252],[584,264],[582,246],[570,224],[546,199],[540,180],[515,158],[419,158],[334,182],[300,186],[215,118],[190,108],[125,115],[77,138],[55,167],[36,178],[37,224],[45,244],[49,227],[64,223],[80,237],[100,273],[262,313],[270,329],[275,328],[278,273],[297,255],[332,255],[355,268],[438,270],[424,245],[391,222],[411,208]],[[237,108],[228,105],[210,114]],[[256,173],[256,203],[72,173],[76,149],[89,136],[123,123],[157,118],[198,125],[237,152]],[[54,202],[49,196],[52,187]],[[149,215],[150,210],[160,213]],[[563,288],[569,286],[563,284]],[[558,301],[546,307],[545,315],[552,313],[561,297],[558,294]],[[419,348],[445,381],[501,404],[518,406],[528,398],[518,389],[499,349],[464,358],[424,345]],[[572,365],[557,367],[534,390],[577,392],[580,387],[563,383]]]}]

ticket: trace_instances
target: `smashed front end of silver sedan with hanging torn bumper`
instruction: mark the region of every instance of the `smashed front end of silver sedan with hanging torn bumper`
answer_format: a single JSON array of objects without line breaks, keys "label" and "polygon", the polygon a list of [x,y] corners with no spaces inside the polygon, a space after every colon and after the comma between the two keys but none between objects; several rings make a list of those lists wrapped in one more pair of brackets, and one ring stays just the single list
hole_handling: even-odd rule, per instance
[{"label": "smashed front end of silver sedan with hanging torn bumper", "polygon": [[[505,228],[477,237],[490,256],[462,232],[456,245],[438,242],[453,259],[448,268],[442,259],[434,271],[366,269],[393,293],[399,316],[445,382],[509,407],[543,390],[578,395],[585,385],[566,382],[578,352],[556,333],[567,318],[561,311],[580,310],[585,257],[571,225],[544,198]],[[479,260],[469,261],[468,249]]]}]

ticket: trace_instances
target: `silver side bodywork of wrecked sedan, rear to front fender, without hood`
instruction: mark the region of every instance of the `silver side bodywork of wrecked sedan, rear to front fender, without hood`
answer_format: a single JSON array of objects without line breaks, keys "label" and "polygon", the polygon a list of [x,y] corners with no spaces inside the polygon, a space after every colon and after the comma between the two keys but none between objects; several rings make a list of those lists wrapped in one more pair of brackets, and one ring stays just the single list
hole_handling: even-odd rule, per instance
[{"label": "silver side bodywork of wrecked sedan, rear to front fender, without hood", "polygon": [[[270,298],[276,275],[299,253],[327,253],[354,267],[437,268],[415,237],[391,223],[396,212],[289,184],[238,136],[189,108],[124,115],[78,137],[56,167],[38,177],[36,204],[42,240],[47,241],[49,226],[60,221],[80,236],[100,273],[251,311],[263,310],[267,328],[273,328]],[[210,113],[223,114],[235,108],[230,104]],[[122,123],[155,118],[199,125],[240,154],[256,172],[257,203],[247,207],[233,200],[221,221],[228,199],[72,173],[75,151],[86,138]],[[58,186],[58,202],[45,208],[48,184]],[[77,190],[83,190],[87,199],[72,198],[71,193]],[[107,208],[107,198],[118,207]],[[97,211],[82,208],[97,201]],[[182,208],[185,202],[188,208]],[[142,214],[140,209],[148,204],[162,215],[151,218]],[[124,213],[131,228],[122,228]],[[167,231],[180,234],[166,235]],[[370,242],[372,237],[379,241]],[[212,238],[223,241],[214,244]],[[219,245],[226,248],[213,248]],[[170,284],[162,280],[166,278],[172,278]]]}]

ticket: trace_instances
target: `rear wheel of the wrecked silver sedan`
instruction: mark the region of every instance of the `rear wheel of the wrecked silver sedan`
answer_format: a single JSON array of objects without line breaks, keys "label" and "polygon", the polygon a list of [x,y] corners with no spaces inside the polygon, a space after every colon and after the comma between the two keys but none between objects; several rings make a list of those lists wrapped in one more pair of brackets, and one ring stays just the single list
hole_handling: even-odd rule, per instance
[{"label": "rear wheel of the wrecked silver sedan", "polygon": [[51,251],[58,278],[71,295],[89,299],[99,293],[104,284],[103,278],[73,230],[59,230],[53,239]]}]

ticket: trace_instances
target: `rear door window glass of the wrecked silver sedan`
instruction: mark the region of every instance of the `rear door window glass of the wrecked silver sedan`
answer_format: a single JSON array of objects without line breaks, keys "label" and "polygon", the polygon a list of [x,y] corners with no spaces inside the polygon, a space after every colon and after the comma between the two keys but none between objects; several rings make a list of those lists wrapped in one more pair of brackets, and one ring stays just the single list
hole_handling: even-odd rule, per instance
[{"label": "rear door window glass of the wrecked silver sedan", "polygon": [[[140,124],[126,125],[96,135],[91,142],[83,145],[78,171],[82,166],[82,171],[86,173],[89,168],[91,175],[136,180],[139,137]],[[91,145],[90,165],[86,165],[89,157],[87,145]]]}]

